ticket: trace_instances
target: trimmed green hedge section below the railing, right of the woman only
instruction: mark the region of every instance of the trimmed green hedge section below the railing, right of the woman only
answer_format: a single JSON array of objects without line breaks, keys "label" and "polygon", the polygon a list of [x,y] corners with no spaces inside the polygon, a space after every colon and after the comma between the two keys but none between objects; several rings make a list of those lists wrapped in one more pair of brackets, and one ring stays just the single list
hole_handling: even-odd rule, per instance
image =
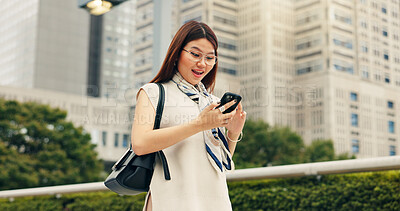
[{"label": "trimmed green hedge section below the railing, right of the woman only", "polygon": [[229,183],[234,210],[400,210],[400,171]]}]

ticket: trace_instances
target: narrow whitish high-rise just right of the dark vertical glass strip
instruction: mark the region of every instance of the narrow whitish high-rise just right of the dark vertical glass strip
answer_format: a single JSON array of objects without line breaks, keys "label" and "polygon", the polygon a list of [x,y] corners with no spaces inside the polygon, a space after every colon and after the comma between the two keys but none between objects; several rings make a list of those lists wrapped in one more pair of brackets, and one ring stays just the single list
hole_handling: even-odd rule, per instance
[{"label": "narrow whitish high-rise just right of the dark vertical glass strip", "polygon": [[102,16],[92,16],[101,19],[99,71],[93,74],[99,77],[99,97],[124,100],[133,86],[135,3],[126,1]]}]

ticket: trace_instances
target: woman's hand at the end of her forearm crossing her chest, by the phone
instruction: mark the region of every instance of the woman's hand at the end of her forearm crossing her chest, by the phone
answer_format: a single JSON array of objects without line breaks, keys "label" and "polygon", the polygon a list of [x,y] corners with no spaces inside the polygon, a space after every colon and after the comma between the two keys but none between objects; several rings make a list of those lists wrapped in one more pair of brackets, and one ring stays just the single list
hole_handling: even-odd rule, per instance
[{"label": "woman's hand at the end of her forearm crossing her chest, by the phone", "polygon": [[[234,101],[225,104],[224,107],[229,108],[233,104],[235,104]],[[235,116],[236,109],[230,113],[223,114],[221,110],[215,109],[218,105],[219,103],[213,103],[207,106],[191,123],[196,124],[197,128],[201,131],[217,127],[226,127],[229,124],[229,121],[231,121]]]}]

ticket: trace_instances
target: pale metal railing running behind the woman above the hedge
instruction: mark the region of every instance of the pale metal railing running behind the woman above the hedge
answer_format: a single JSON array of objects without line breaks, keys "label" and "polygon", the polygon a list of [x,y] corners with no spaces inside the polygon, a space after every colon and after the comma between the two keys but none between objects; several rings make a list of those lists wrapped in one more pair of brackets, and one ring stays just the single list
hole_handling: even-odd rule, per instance
[{"label": "pale metal railing running behind the woman above the hedge", "polygon": [[[327,161],[262,168],[238,169],[227,173],[228,181],[301,177],[310,175],[342,174],[354,172],[383,171],[400,169],[400,156],[377,157],[355,160]],[[56,195],[67,193],[108,190],[103,182],[59,185],[40,188],[26,188],[0,191],[0,198]]]}]

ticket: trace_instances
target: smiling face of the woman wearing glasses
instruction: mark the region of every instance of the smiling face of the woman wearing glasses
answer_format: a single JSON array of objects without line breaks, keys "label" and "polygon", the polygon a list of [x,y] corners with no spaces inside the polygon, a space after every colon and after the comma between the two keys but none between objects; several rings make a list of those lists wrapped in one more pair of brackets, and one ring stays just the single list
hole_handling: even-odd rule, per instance
[{"label": "smiling face of the woman wearing glasses", "polygon": [[[178,71],[187,82],[196,85],[214,67],[206,63],[207,59],[212,58],[211,55],[215,55],[214,46],[206,38],[201,38],[188,42],[183,49],[178,60]],[[201,54],[204,56],[200,61],[195,61],[193,53],[196,56],[202,56]]]}]

